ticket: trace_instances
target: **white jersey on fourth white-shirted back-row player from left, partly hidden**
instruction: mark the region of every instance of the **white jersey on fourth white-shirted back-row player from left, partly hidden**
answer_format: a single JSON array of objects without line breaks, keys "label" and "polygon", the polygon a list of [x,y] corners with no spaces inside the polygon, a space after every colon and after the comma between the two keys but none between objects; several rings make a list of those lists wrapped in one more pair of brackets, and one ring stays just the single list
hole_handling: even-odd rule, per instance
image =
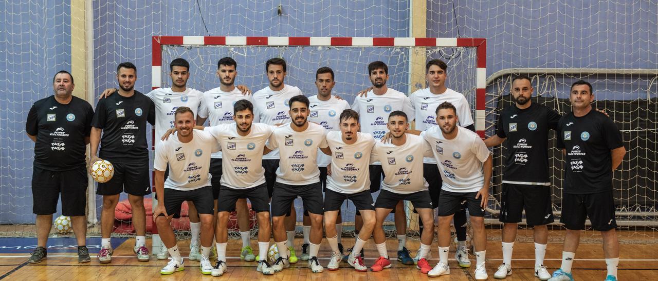
[{"label": "white jersey on fourth white-shirted back-row player from left, partly hidden", "polygon": [[[340,114],[349,109],[347,100],[331,96],[329,100],[320,100],[318,96],[309,97],[309,121],[318,123],[327,131],[340,131]],[[326,167],[331,163],[331,156],[318,151],[318,166]]]}]

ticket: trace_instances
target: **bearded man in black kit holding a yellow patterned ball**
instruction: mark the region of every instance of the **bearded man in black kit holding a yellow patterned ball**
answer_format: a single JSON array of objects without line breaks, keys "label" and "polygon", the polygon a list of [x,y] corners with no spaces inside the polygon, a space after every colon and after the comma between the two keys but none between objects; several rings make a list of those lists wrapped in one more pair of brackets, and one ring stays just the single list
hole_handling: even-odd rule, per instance
[{"label": "bearded man in black kit holding a yellow patterned ball", "polygon": [[[151,194],[149,184],[149,150],[146,144],[146,123],[155,123],[153,100],[134,89],[137,68],[130,62],[116,67],[119,84],[117,95],[103,98],[96,105],[91,122],[91,163],[101,158],[114,165],[114,176],[99,183],[96,194],[103,196],[101,213],[101,263],[112,261],[110,235],[114,227],[114,208],[121,192],[128,194],[132,208],[132,224],[136,230],[134,251],[138,261],[149,261],[146,248],[146,212],[144,196]],[[101,131],[103,139],[101,139]],[[101,144],[99,157],[96,156]]]}]

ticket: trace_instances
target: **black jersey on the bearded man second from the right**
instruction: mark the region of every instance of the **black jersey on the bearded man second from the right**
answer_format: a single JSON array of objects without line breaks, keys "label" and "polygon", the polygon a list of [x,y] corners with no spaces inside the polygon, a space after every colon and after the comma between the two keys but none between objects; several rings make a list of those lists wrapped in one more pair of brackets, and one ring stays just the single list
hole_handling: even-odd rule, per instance
[{"label": "black jersey on the bearded man second from the right", "polygon": [[501,112],[496,135],[507,138],[503,183],[549,185],[548,130],[557,130],[561,116],[542,104],[509,106]]}]

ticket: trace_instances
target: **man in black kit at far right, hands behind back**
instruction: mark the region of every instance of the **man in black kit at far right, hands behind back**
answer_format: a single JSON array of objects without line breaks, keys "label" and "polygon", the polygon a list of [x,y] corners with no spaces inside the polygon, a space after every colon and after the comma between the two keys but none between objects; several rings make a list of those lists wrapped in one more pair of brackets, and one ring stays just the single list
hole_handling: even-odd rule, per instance
[{"label": "man in black kit at far right, hands behind back", "polygon": [[607,266],[605,280],[617,280],[619,241],[613,198],[613,171],[626,154],[621,133],[605,114],[592,110],[592,85],[579,80],[571,85],[572,112],[560,119],[557,148],[565,155],[565,181],[560,223],[565,224],[562,265],[551,281],[574,280],[571,275],[580,230],[590,217],[592,228],[601,232]]}]

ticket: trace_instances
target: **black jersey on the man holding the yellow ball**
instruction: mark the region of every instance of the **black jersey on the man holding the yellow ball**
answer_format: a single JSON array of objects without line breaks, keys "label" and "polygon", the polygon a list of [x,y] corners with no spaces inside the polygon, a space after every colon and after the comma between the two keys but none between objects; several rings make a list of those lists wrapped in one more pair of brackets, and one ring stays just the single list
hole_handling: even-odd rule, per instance
[{"label": "black jersey on the man holding the yellow ball", "polygon": [[99,157],[116,163],[149,162],[146,122],[155,123],[151,98],[135,91],[131,97],[117,92],[98,101],[91,125],[103,129]]}]

